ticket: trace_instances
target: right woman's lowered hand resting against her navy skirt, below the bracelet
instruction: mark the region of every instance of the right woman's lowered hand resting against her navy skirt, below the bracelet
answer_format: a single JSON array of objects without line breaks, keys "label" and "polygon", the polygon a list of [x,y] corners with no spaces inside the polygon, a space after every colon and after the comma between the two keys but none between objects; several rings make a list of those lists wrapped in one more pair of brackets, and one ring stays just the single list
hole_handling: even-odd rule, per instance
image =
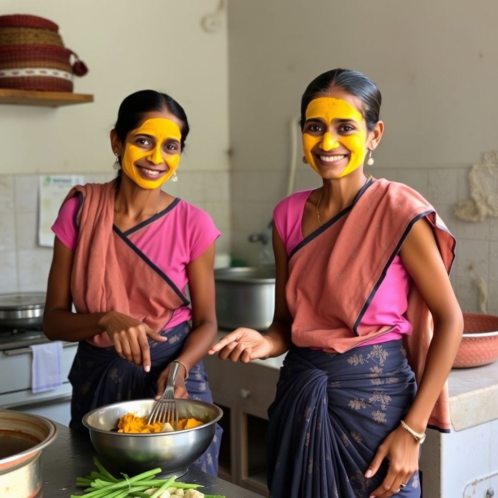
[{"label": "right woman's lowered hand resting against her navy skirt, below the bracelet", "polygon": [[370,494],[370,498],[388,498],[399,493],[403,485],[418,470],[420,444],[401,426],[392,431],[378,447],[377,453],[365,473],[372,477],[386,458],[389,469],[382,484]]}]

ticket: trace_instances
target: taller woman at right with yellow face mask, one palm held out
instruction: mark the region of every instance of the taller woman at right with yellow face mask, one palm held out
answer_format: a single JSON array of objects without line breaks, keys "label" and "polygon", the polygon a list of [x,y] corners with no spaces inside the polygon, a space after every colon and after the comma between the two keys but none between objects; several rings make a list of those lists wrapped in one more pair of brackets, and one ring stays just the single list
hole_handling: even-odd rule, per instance
[{"label": "taller woman at right with yellow face mask, one palm held out", "polygon": [[450,429],[445,382],[463,331],[455,240],[420,194],[365,172],[380,101],[355,71],[310,83],[303,160],[323,185],[274,210],[273,323],[209,351],[242,362],[287,352],[268,409],[273,498],[420,497],[426,428]]}]

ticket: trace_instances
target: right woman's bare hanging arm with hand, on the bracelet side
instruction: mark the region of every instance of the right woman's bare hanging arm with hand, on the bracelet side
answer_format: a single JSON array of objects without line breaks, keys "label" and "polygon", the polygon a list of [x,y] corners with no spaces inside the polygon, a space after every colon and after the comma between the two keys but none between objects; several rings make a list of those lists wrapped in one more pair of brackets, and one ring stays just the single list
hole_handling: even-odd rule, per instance
[{"label": "right woman's bare hanging arm with hand, on the bracelet side", "polygon": [[[422,434],[457,354],[463,333],[463,316],[432,228],[425,218],[413,225],[401,247],[400,257],[434,322],[424,373],[415,399],[404,417],[409,427]],[[419,443],[407,430],[399,426],[391,432],[378,448],[365,474],[371,477],[384,458],[389,460],[387,475],[371,496],[387,498],[397,493],[399,485],[406,483],[418,469],[418,456]]]}]

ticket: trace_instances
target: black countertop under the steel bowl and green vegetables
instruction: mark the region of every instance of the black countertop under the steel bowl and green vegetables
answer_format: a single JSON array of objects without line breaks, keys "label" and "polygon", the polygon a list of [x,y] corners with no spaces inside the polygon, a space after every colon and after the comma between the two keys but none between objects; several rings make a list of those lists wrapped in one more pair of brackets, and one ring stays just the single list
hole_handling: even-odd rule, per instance
[{"label": "black countertop under the steel bowl and green vegetables", "polygon": [[[82,494],[83,488],[76,487],[76,478],[88,476],[95,468],[93,457],[98,456],[89,437],[65,425],[58,423],[56,425],[55,441],[41,453],[43,485],[40,498],[69,498],[71,495]],[[119,473],[106,465],[104,459],[102,463],[119,477]],[[210,495],[224,495],[227,498],[261,498],[260,495],[196,469],[189,469],[179,481],[201,484],[203,488],[199,491]]]}]

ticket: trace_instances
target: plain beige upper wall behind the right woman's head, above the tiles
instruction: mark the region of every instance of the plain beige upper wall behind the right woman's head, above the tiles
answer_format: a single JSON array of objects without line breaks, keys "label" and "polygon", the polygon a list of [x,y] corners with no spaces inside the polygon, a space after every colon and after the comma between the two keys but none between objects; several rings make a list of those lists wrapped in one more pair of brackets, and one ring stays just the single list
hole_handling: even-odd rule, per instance
[{"label": "plain beige upper wall behind the right woman's head, above the tiles", "polygon": [[230,0],[234,169],[287,165],[286,122],[336,67],[378,85],[384,167],[467,165],[497,147],[496,0]]}]

